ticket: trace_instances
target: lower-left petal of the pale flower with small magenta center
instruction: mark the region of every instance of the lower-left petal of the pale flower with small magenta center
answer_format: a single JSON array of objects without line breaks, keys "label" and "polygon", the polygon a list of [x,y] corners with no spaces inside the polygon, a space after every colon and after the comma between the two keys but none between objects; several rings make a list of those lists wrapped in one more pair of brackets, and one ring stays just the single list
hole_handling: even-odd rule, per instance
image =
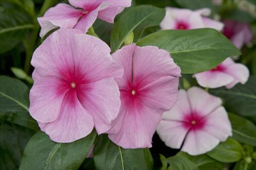
[{"label": "lower-left petal of the pale flower with small magenta center", "polygon": [[166,146],[180,149],[188,129],[183,128],[182,122],[162,120],[157,126],[156,131]]}]

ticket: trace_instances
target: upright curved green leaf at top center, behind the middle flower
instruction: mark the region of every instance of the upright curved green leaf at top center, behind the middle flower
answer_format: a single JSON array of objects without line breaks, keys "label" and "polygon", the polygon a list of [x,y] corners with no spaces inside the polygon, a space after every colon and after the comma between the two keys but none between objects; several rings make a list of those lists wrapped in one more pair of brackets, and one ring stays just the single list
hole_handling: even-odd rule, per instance
[{"label": "upright curved green leaf at top center, behind the middle flower", "polygon": [[125,38],[133,31],[134,41],[137,41],[143,30],[158,25],[165,16],[165,10],[150,5],[140,5],[127,10],[115,22],[111,32],[111,51],[119,49]]}]

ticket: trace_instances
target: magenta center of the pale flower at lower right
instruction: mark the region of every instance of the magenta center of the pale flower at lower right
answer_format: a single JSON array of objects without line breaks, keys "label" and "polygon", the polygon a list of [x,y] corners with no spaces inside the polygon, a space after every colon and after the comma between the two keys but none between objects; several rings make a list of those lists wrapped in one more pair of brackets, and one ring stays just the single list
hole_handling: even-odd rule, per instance
[{"label": "magenta center of the pale flower at lower right", "polygon": [[186,129],[200,130],[204,128],[205,121],[202,115],[194,112],[184,116],[183,126]]}]

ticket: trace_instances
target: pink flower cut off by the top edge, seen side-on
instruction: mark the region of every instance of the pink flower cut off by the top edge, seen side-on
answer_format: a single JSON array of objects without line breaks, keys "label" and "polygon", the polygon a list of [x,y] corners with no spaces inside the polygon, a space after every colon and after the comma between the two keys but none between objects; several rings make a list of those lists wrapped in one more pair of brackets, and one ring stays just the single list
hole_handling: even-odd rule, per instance
[{"label": "pink flower cut off by the top edge, seen side-on", "polygon": [[74,7],[60,3],[46,11],[43,17],[38,18],[42,27],[41,37],[58,27],[74,28],[85,33],[97,17],[114,23],[115,16],[121,13],[124,7],[131,6],[131,0],[69,0],[69,3]]}]

